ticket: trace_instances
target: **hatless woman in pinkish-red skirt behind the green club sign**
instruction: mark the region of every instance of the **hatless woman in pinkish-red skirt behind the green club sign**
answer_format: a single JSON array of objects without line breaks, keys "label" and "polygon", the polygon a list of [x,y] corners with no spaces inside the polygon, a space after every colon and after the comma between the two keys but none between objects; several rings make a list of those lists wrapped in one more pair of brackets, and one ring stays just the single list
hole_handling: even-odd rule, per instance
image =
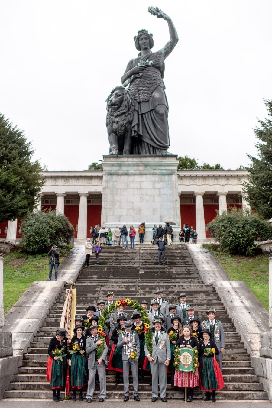
[{"label": "hatless woman in pinkish-red skirt behind the green club sign", "polygon": [[[195,337],[192,336],[191,326],[184,326],[181,337],[177,339],[176,347],[193,348],[195,346],[198,347],[198,341],[195,339]],[[185,397],[185,375],[186,373],[184,373],[184,371],[175,370],[174,382],[172,383],[172,385],[180,387],[183,390],[184,397]],[[199,385],[198,370],[196,371],[196,373],[194,373],[193,371],[189,371],[187,373],[187,392],[188,392],[187,402],[192,402],[192,394],[194,392],[194,388],[198,387],[198,385]]]}]

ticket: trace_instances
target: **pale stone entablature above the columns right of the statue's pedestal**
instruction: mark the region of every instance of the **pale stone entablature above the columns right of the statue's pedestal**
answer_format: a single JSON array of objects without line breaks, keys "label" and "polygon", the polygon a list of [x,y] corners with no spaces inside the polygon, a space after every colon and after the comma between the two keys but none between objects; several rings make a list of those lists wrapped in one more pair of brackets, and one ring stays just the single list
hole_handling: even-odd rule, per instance
[{"label": "pale stone entablature above the columns right of the statue's pedestal", "polygon": [[248,181],[244,170],[180,170],[178,191],[180,193],[236,193],[241,194],[243,182]]}]

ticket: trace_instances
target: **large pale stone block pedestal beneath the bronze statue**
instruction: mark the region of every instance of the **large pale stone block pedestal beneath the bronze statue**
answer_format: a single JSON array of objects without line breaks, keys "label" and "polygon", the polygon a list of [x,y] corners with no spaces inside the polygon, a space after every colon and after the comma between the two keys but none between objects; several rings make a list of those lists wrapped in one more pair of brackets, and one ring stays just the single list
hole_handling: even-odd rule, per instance
[{"label": "large pale stone block pedestal beneath the bronze statue", "polygon": [[174,222],[179,240],[180,204],[177,185],[177,156],[103,156],[101,226],[136,229],[146,223],[144,242],[152,238],[154,224]]}]

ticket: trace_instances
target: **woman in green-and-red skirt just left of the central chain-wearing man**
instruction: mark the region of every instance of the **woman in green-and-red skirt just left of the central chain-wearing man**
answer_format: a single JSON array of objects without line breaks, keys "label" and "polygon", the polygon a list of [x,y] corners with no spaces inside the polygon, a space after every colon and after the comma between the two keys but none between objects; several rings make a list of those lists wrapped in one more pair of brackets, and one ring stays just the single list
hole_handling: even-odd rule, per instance
[{"label": "woman in green-and-red skirt just left of the central chain-wearing man", "polygon": [[116,373],[115,385],[120,382],[120,373],[123,373],[123,360],[122,360],[122,348],[116,347],[119,334],[123,329],[123,325],[126,322],[127,318],[124,315],[118,317],[118,328],[114,328],[111,334],[111,340],[113,340],[113,346],[111,348],[110,358],[108,360],[108,370],[113,370]]}]

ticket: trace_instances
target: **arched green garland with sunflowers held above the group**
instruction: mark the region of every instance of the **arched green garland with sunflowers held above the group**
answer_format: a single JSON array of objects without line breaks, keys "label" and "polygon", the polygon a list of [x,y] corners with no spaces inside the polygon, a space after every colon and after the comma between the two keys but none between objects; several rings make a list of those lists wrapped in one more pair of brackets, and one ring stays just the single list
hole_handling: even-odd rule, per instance
[{"label": "arched green garland with sunflowers held above the group", "polygon": [[[110,304],[109,306],[105,307],[102,311],[100,318],[98,319],[98,338],[100,340],[105,339],[106,334],[104,332],[106,321],[108,319],[108,313],[113,313],[118,306],[128,306],[134,310],[137,310],[141,314],[142,322],[144,324],[144,339],[146,341],[146,347],[148,349],[148,353],[152,355],[152,335],[153,331],[150,329],[150,320],[148,319],[147,311],[143,308],[141,304],[138,303],[137,300],[130,300],[126,298],[125,300],[119,299],[114,303]],[[105,341],[101,346],[97,346],[97,358],[100,359],[102,356],[103,350],[105,348]]]}]

